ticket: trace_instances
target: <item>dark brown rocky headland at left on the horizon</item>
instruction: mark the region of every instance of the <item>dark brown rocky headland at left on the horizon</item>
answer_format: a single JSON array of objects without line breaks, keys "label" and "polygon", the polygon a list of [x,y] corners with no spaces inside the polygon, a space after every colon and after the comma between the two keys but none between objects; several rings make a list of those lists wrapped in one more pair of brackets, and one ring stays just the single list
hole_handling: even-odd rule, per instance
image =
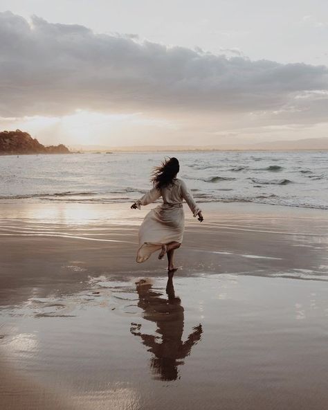
[{"label": "dark brown rocky headland at left on the horizon", "polygon": [[65,145],[45,147],[21,130],[0,132],[0,155],[12,154],[70,154]]}]

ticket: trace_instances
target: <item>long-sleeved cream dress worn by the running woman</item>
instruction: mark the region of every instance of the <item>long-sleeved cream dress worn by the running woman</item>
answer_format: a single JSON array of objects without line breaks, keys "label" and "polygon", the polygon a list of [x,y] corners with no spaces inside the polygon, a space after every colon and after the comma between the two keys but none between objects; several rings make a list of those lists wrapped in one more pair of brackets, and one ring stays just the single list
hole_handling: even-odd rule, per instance
[{"label": "long-sleeved cream dress worn by the running woman", "polygon": [[136,261],[145,262],[149,256],[161,249],[162,244],[182,242],[185,229],[185,215],[182,202],[185,199],[194,217],[201,211],[194,202],[192,193],[182,179],[174,178],[170,186],[149,190],[136,201],[136,206],[151,204],[162,197],[163,204],[152,209],[143,220],[139,229],[139,249]]}]

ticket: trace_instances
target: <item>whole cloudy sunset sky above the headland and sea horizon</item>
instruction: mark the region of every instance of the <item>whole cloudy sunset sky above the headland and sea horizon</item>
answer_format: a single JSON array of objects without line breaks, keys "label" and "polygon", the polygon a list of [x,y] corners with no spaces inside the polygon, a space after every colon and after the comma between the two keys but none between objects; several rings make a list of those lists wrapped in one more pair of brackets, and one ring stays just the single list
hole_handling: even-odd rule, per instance
[{"label": "whole cloudy sunset sky above the headland and sea horizon", "polygon": [[327,0],[0,0],[0,130],[45,144],[328,136]]}]

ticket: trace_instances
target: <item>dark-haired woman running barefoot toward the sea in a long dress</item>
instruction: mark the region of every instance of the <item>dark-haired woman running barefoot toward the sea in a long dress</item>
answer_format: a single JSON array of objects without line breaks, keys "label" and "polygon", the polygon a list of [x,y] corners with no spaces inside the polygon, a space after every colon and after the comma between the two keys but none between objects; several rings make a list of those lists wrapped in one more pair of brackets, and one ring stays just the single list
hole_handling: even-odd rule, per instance
[{"label": "dark-haired woman running barefoot toward the sea in a long dress", "polygon": [[159,197],[163,198],[163,204],[147,213],[140,226],[136,261],[145,262],[153,252],[161,249],[158,259],[163,259],[165,253],[167,254],[169,274],[176,271],[173,264],[174,250],[180,247],[183,238],[183,199],[194,217],[198,215],[199,222],[203,221],[201,209],[194,202],[185,182],[176,178],[179,169],[179,161],[176,158],[163,161],[161,166],[154,169],[151,179],[154,188],[131,206],[132,209],[140,209],[141,205],[151,204]]}]

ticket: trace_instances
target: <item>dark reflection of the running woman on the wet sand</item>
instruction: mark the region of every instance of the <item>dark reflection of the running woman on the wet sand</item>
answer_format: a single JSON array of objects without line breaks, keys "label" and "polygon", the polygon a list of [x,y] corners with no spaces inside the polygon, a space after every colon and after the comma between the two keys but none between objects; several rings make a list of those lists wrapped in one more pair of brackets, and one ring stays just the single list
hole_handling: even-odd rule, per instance
[{"label": "dark reflection of the running woman on the wet sand", "polygon": [[178,366],[190,355],[192,346],[201,339],[201,324],[193,328],[186,341],[182,341],[184,309],[181,299],[174,294],[172,278],[167,280],[166,293],[154,292],[152,285],[137,285],[138,307],[144,311],[143,317],[156,323],[156,336],[143,334],[141,324],[131,323],[131,333],[139,336],[148,351],[153,353],[150,367],[154,378],[158,380],[176,380],[179,377]]}]

